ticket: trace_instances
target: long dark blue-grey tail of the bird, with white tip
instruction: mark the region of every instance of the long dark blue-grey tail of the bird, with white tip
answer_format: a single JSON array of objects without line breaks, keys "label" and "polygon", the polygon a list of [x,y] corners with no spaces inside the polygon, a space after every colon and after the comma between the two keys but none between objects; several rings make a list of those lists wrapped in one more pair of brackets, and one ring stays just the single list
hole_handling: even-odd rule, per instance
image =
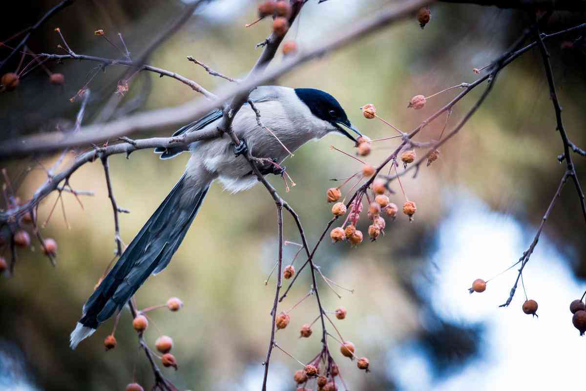
[{"label": "long dark blue-grey tail of the bird, with white tip", "polygon": [[184,174],[87,300],[71,332],[72,349],[120,310],[151,274],[169,264],[209,189],[189,184]]}]

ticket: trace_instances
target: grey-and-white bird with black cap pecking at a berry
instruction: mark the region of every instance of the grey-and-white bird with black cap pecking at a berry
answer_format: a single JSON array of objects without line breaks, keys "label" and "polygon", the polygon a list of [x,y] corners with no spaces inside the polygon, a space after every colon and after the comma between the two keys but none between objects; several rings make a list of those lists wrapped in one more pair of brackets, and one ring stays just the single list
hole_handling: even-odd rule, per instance
[{"label": "grey-and-white bird with black cap pecking at a berry", "polygon": [[[308,141],[333,133],[357,145],[349,131],[362,137],[338,101],[322,90],[260,86],[250,93],[249,100],[260,112],[263,125],[274,135],[258,124],[257,114],[246,103],[233,118],[232,129],[239,145],[223,135],[189,145],[191,157],[185,172],[84,304],[82,317],[70,335],[71,349],[120,311],[151,274],[159,273],[169,264],[212,182],[218,180],[230,192],[244,191],[258,183],[243,154],[261,158],[256,160],[263,162],[257,164],[261,174],[283,175],[280,164],[289,151]],[[222,116],[222,110],[213,110],[173,136],[216,129]],[[169,159],[184,149],[156,148],[155,153],[161,159]]]}]

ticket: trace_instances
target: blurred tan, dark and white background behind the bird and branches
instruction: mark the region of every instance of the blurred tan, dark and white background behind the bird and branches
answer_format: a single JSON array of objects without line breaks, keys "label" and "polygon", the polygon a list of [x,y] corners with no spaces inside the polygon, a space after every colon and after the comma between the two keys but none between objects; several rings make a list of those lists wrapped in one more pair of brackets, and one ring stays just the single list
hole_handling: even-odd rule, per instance
[{"label": "blurred tan, dark and white background behind the bird and branches", "polygon": [[[0,38],[35,23],[56,0],[21,1],[0,26]],[[300,50],[323,37],[335,35],[389,1],[309,1],[285,39]],[[144,49],[156,34],[180,15],[184,4],[169,0],[78,0],[54,16],[29,40],[36,53],[59,53],[59,27],[78,54],[118,57],[113,47],[94,30],[104,29],[115,40],[121,32],[131,53]],[[216,0],[204,5],[175,35],[149,58],[149,63],[196,80],[210,90],[227,81],[209,76],[189,63],[190,55],[212,69],[244,77],[260,54],[255,44],[270,32],[270,22],[245,29],[256,17],[257,3]],[[415,94],[429,96],[446,87],[471,82],[480,68],[506,49],[529,23],[522,12],[475,5],[435,4],[431,22],[421,30],[415,18],[381,30],[367,39],[299,67],[275,83],[290,87],[316,87],[333,94],[350,120],[371,138],[394,131],[377,120],[366,120],[359,107],[374,103],[377,114],[410,131],[443,106],[458,90],[431,98],[423,110],[407,109]],[[548,32],[584,22],[584,15],[557,12]],[[572,141],[584,147],[584,48],[570,42],[576,35],[547,41],[564,123]],[[0,48],[2,57],[9,53]],[[18,57],[18,56],[17,56]],[[282,60],[279,54],[273,64]],[[13,59],[6,70],[18,66]],[[95,72],[96,64],[65,61],[47,63],[51,72],[65,76],[64,86],[49,83],[37,68],[23,77],[12,93],[0,94],[2,132],[8,139],[33,132],[66,128],[79,110],[70,102]],[[125,69],[109,66],[91,80],[92,91],[84,123],[95,121],[115,91]],[[472,106],[482,87],[472,91],[454,109],[448,130]],[[176,80],[143,73],[134,78],[124,102],[127,107],[150,110],[176,106],[193,99],[189,87]],[[124,115],[125,113],[117,113]],[[437,138],[444,116],[425,127],[417,140]],[[336,283],[342,299],[319,281],[328,310],[343,305],[348,314],[336,327],[356,345],[357,355],[370,359],[365,374],[338,353],[334,358],[352,390],[475,390],[569,389],[580,383],[584,339],[571,324],[570,301],[585,288],[586,242],[578,197],[571,183],[558,200],[544,234],[523,273],[529,298],[539,302],[539,318],[523,314],[522,289],[509,308],[498,308],[509,295],[516,270],[488,284],[485,293],[468,294],[476,278],[492,278],[513,264],[533,239],[564,165],[539,52],[532,50],[503,70],[493,92],[459,135],[441,148],[438,161],[421,169],[417,178],[404,177],[407,195],[417,203],[415,221],[404,215],[387,221],[386,234],[377,242],[364,241],[356,249],[347,243],[323,243],[315,261]],[[169,128],[158,135],[171,134]],[[134,137],[148,137],[149,134]],[[280,178],[269,180],[297,210],[311,245],[331,216],[325,191],[331,178],[344,178],[360,165],[329,146],[352,151],[344,138],[329,136],[312,142],[288,159],[287,170],[297,186],[286,193]],[[367,161],[376,164],[398,141],[376,142]],[[72,151],[63,166],[74,158]],[[421,152],[418,152],[421,153]],[[151,151],[110,158],[118,205],[131,210],[120,216],[121,236],[129,243],[179,179],[187,154],[161,161]],[[56,156],[2,161],[21,199],[29,199],[45,180],[43,166]],[[586,182],[586,164],[576,156],[577,171]],[[43,229],[58,245],[53,268],[33,239],[30,249],[19,250],[15,275],[0,280],[0,389],[110,390],[124,389],[134,378],[152,385],[152,372],[137,348],[128,311],[122,313],[116,336],[118,346],[104,352],[103,338],[112,319],[76,349],[69,349],[69,333],[113,257],[114,223],[99,162],[87,164],[70,180],[77,190],[95,192],[81,197],[64,193],[60,205]],[[339,182],[337,182],[339,183]],[[348,189],[346,185],[345,190]],[[401,205],[397,183],[391,200]],[[346,192],[344,192],[346,193]],[[39,208],[45,222],[56,193]],[[265,286],[277,257],[274,203],[261,186],[230,194],[216,183],[207,196],[182,246],[166,270],[151,277],[136,295],[139,308],[163,304],[177,296],[185,302],[179,312],[165,308],[151,312],[145,333],[154,346],[159,335],[172,336],[179,370],[163,369],[180,389],[258,390],[270,336],[269,311],[275,276]],[[360,229],[366,232],[363,218]],[[285,240],[299,242],[294,223],[285,215]],[[9,259],[9,251],[2,249]],[[297,248],[285,247],[285,264]],[[301,266],[301,255],[295,261]],[[307,271],[295,284],[282,310],[292,307],[309,290]],[[287,283],[285,283],[287,286]],[[298,339],[302,324],[317,315],[310,297],[291,312],[288,328],[277,342],[301,361],[321,349],[320,327],[314,335]],[[271,360],[271,390],[293,390],[292,373],[298,363],[280,351]],[[133,375],[134,374],[134,375]],[[343,389],[343,388],[340,388]]]}]

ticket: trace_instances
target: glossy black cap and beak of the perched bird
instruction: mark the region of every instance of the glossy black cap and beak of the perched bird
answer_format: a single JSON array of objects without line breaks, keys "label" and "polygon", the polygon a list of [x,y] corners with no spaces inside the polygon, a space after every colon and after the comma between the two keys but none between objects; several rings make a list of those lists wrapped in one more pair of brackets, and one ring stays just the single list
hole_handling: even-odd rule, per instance
[{"label": "glossy black cap and beak of the perched bird", "polygon": [[312,114],[319,119],[328,121],[334,125],[338,131],[346,135],[350,140],[356,142],[356,139],[339,125],[344,125],[355,131],[358,135],[362,135],[355,127],[353,127],[352,123],[350,123],[346,111],[340,106],[336,98],[330,94],[318,89],[295,89],[295,94],[297,94],[299,100],[305,103],[309,110],[311,110]]}]

